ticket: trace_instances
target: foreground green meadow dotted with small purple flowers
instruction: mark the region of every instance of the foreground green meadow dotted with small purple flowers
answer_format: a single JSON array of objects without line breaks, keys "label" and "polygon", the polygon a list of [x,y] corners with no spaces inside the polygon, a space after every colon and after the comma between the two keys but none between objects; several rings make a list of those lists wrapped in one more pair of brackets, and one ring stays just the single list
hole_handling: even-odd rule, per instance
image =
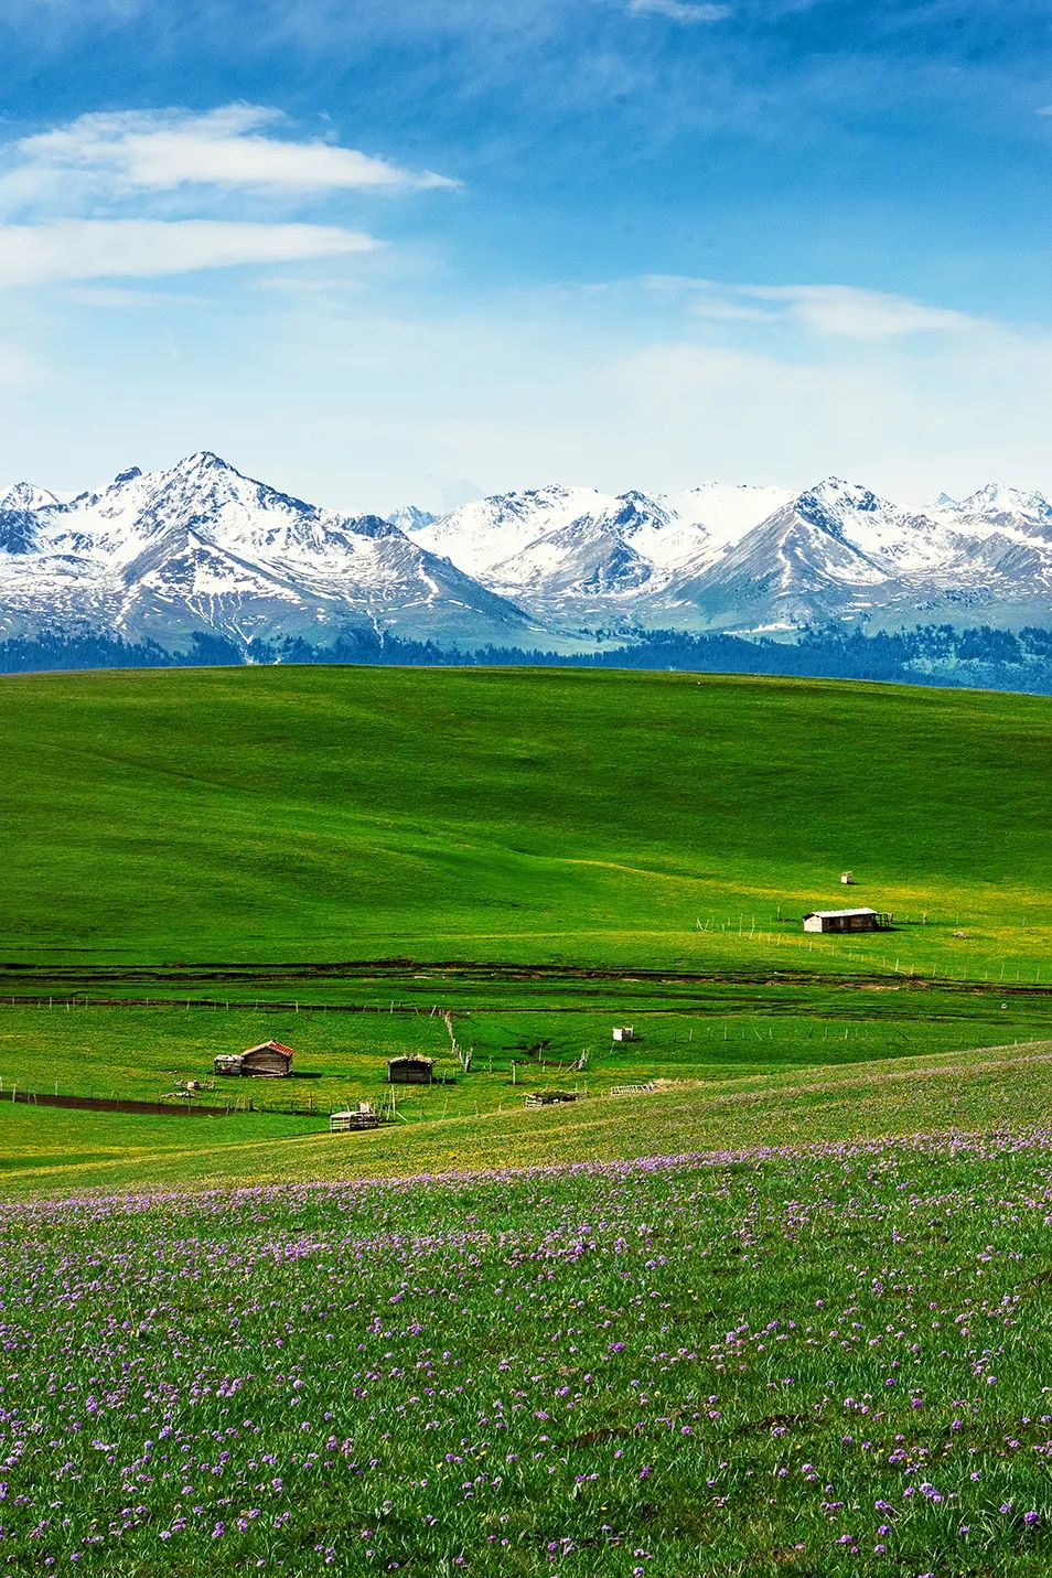
[{"label": "foreground green meadow dotted with small purple flowers", "polygon": [[0,1212],[0,1578],[1052,1570],[1052,1135]]}]

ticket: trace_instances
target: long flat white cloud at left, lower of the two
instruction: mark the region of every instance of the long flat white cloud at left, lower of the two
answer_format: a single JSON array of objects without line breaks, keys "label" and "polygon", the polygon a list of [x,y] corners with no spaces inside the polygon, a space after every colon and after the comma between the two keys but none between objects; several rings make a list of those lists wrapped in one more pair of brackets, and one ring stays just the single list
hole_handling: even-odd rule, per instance
[{"label": "long flat white cloud at left, lower of the two", "polygon": [[222,219],[55,219],[0,226],[0,286],[74,279],[147,279],[342,257],[379,246],[367,235],[319,224]]}]

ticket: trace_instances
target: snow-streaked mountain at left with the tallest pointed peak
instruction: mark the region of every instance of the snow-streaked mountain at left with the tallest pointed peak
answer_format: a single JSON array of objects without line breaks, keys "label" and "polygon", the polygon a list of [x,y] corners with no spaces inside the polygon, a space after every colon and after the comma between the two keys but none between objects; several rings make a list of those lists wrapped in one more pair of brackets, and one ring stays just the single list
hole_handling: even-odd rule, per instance
[{"label": "snow-streaked mountain at left with the tallest pointed peak", "polygon": [[355,625],[464,645],[532,628],[396,524],[309,505],[208,451],[66,502],[28,484],[0,497],[5,634],[103,630],[180,650],[196,631],[325,645]]}]

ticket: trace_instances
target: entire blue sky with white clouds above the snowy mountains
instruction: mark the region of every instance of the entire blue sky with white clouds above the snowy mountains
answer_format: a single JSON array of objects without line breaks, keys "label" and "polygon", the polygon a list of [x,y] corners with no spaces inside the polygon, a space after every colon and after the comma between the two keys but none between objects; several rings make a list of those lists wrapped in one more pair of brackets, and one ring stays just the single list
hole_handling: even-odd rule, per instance
[{"label": "entire blue sky with white clouds above the snowy mountains", "polygon": [[5,0],[0,478],[1052,491],[1036,0]]}]

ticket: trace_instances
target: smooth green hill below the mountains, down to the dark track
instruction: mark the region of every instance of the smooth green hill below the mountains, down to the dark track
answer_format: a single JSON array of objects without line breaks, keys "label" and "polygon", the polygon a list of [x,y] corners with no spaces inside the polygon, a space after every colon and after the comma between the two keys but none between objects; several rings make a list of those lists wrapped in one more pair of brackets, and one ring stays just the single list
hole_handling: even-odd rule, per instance
[{"label": "smooth green hill below the mountains, down to the dark track", "polygon": [[[0,961],[861,956],[1033,980],[1052,940],[1052,707],[1035,697],[571,671],[65,674],[0,680]],[[800,914],[845,896],[932,923],[804,942]]]}]

